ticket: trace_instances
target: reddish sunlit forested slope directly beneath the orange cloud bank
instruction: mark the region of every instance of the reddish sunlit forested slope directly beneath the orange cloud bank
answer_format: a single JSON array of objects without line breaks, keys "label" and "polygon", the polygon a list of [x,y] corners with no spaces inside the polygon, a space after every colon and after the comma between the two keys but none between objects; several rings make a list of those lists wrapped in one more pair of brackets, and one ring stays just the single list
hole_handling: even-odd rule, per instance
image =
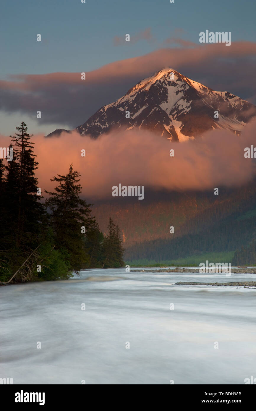
[{"label": "reddish sunlit forested slope directly beneath the orange cloud bank", "polygon": [[[145,191],[146,192],[146,191]],[[146,192],[147,193],[147,192]],[[147,193],[148,194],[148,193]],[[143,201],[123,198],[104,203],[95,203],[93,213],[103,233],[107,231],[106,215],[118,221],[120,231],[128,249],[135,243],[171,239],[174,236],[199,233],[220,219],[235,214],[244,215],[256,208],[254,182],[237,189],[219,188],[219,195],[211,192],[150,193]]]}]

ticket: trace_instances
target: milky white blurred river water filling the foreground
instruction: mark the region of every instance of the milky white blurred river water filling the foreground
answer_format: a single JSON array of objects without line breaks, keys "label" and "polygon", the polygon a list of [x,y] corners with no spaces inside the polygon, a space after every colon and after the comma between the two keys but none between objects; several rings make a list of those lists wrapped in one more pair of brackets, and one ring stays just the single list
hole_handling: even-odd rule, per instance
[{"label": "milky white blurred river water filling the foreground", "polygon": [[256,377],[256,289],[174,284],[252,280],[120,268],[0,287],[0,377],[14,384],[244,384]]}]

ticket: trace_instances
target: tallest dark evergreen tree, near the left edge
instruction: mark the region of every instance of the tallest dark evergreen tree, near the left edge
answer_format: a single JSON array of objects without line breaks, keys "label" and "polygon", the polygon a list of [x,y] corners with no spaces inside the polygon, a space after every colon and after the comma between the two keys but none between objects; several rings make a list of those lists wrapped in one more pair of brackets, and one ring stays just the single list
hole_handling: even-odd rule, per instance
[{"label": "tallest dark evergreen tree, near the left edge", "polygon": [[[41,219],[44,208],[40,204],[42,197],[37,195],[37,179],[35,170],[37,162],[33,152],[32,135],[28,134],[25,122],[16,127],[15,136],[10,136],[9,145],[12,150],[12,159],[5,166],[6,175],[3,178],[1,162],[1,192],[4,211],[0,235],[0,260],[3,261],[0,272],[1,279],[7,280],[10,274],[27,259],[31,251],[39,245],[41,235]],[[14,145],[12,144],[14,143]],[[29,278],[33,275],[30,264]],[[25,278],[26,275],[22,278]],[[19,279],[19,275],[16,276]]]}]

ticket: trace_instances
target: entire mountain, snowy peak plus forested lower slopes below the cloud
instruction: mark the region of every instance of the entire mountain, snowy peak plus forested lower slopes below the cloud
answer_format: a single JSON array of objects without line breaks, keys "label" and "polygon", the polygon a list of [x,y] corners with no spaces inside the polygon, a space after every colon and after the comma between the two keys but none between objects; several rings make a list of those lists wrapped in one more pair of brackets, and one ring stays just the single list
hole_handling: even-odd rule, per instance
[{"label": "entire mountain, snowy peak plus forested lower slopes below the cloud", "polygon": [[[126,111],[130,118],[126,118]],[[219,118],[214,118],[215,111]],[[172,141],[185,141],[217,128],[240,133],[254,115],[253,104],[229,92],[214,91],[168,68],[140,81],[75,130],[96,139],[119,127],[138,127]],[[61,132],[58,130],[58,135]],[[158,200],[152,193],[148,202],[122,204],[115,200],[95,204],[93,215],[103,233],[107,232],[108,217],[118,220],[128,262],[144,264],[202,253],[234,253],[256,238],[255,187],[250,182],[242,188],[226,188],[219,200],[212,191],[162,193],[161,198],[157,195]],[[175,226],[173,235],[170,225]]]}]

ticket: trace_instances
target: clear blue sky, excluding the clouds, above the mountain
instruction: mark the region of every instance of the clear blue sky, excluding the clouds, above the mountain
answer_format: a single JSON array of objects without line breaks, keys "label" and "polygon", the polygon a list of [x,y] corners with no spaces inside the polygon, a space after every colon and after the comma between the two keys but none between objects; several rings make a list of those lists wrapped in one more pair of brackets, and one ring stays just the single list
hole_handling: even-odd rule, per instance
[{"label": "clear blue sky, excluding the clouds, above the mountain", "polygon": [[[205,30],[231,32],[232,42],[256,42],[255,15],[255,0],[5,2],[0,16],[0,79],[9,80],[12,74],[88,72],[168,47],[164,41],[170,37],[198,44],[199,32]],[[150,41],[141,39],[135,44],[126,42],[114,46],[115,36],[125,37],[129,33],[132,37],[146,29],[151,30]],[[38,33],[42,35],[42,42],[36,41]],[[106,99],[106,102],[111,101]],[[29,118],[18,111],[9,114],[0,111],[0,131],[12,132],[11,123],[21,119],[28,122]],[[33,119],[30,123],[33,132],[44,129],[46,133],[70,126],[55,122],[41,127]]]}]

